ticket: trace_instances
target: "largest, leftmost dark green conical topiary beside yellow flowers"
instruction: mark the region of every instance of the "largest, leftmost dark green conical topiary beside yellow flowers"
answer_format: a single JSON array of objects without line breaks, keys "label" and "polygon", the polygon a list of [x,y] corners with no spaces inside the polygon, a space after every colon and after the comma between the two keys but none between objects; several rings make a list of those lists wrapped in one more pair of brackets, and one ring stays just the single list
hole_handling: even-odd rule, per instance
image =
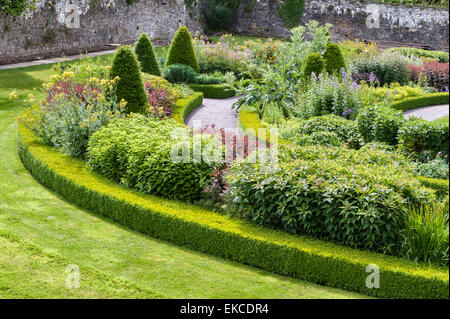
[{"label": "largest, leftmost dark green conical topiary beside yellow flowers", "polygon": [[119,77],[116,89],[118,101],[127,102],[127,112],[139,113],[148,107],[147,92],[139,70],[139,63],[130,46],[124,45],[116,50],[110,77]]}]

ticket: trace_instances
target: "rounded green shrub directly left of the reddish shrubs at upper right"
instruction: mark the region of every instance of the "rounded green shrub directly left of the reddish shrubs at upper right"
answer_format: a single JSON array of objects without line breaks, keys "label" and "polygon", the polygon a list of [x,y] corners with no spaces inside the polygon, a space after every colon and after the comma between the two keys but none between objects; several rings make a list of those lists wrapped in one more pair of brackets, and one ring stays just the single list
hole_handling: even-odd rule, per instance
[{"label": "rounded green shrub directly left of the reddish shrubs at upper right", "polygon": [[354,62],[353,68],[353,73],[373,72],[379,78],[380,85],[394,82],[405,85],[411,78],[408,62],[401,56],[392,53],[363,57]]}]

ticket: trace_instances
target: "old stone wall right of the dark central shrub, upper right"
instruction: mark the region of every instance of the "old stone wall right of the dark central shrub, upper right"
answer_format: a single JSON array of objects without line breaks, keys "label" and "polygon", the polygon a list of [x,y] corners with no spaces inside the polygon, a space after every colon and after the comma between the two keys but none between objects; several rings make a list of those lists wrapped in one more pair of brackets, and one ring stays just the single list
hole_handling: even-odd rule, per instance
[{"label": "old stone wall right of the dark central shrub, upper right", "polygon": [[[290,32],[278,15],[276,1],[283,3],[282,0],[241,1],[234,32],[288,37]],[[379,27],[377,21],[371,19],[371,28],[368,27],[366,21],[370,15],[379,16]],[[333,24],[332,32],[337,40],[389,40],[429,44],[434,49],[448,50],[449,16],[444,9],[364,0],[305,0],[300,22],[305,24],[312,19]]]}]

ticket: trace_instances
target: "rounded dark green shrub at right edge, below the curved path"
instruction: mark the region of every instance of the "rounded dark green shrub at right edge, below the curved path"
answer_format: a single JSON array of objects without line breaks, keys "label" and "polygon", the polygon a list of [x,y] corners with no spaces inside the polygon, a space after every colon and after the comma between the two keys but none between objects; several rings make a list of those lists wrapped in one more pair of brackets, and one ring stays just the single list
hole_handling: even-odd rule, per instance
[{"label": "rounded dark green shrub at right edge, below the curved path", "polygon": [[399,145],[421,161],[434,159],[437,154],[448,157],[449,128],[440,123],[411,118],[399,130]]}]

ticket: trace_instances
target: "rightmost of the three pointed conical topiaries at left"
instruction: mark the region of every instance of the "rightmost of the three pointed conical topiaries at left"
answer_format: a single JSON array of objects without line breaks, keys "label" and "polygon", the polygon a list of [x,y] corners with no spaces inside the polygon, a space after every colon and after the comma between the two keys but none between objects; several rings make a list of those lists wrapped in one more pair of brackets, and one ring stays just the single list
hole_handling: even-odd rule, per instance
[{"label": "rightmost of the three pointed conical topiaries at left", "polygon": [[200,66],[192,44],[192,36],[187,27],[181,26],[172,39],[166,66],[171,64],[186,64],[193,68],[195,72],[200,72]]}]

